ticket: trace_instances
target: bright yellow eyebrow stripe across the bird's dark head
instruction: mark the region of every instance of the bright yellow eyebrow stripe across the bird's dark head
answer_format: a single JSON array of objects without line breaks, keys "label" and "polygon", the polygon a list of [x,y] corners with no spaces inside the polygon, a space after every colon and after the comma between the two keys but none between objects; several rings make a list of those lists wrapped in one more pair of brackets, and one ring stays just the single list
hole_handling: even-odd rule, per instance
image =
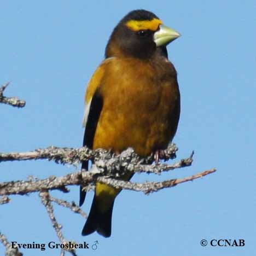
[{"label": "bright yellow eyebrow stripe across the bird's dark head", "polygon": [[153,20],[129,20],[126,22],[125,26],[130,28],[133,31],[139,30],[158,30],[159,25],[162,24],[162,21],[159,19]]}]

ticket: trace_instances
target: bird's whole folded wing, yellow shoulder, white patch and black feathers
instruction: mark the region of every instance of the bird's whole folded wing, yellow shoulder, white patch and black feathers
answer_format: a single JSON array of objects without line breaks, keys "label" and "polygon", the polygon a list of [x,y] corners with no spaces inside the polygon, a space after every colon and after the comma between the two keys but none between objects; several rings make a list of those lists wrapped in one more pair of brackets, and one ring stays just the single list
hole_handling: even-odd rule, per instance
[{"label": "bird's whole folded wing, yellow shoulder, white patch and black feathers", "polygon": [[[103,61],[96,69],[86,89],[85,110],[83,117],[83,126],[85,127],[83,146],[88,148],[92,148],[98,119],[100,118],[101,109],[103,106],[103,98],[98,93],[98,88],[100,87],[100,83],[104,75],[106,62],[106,60]],[[82,169],[88,170],[88,161],[82,162]],[[79,206],[83,205],[85,195],[86,192],[81,186]]]}]

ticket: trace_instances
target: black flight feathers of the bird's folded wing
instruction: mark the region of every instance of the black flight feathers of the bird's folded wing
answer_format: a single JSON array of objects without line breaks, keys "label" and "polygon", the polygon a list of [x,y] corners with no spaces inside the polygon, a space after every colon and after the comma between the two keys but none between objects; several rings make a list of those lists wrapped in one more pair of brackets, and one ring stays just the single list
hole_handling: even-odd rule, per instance
[{"label": "black flight feathers of the bird's folded wing", "polygon": [[[101,115],[101,110],[103,107],[103,98],[100,96],[98,91],[95,92],[94,96],[91,99],[90,110],[88,114],[88,119],[84,131],[84,142],[83,146],[92,148],[94,142],[94,135],[96,127],[98,124],[98,119]],[[88,170],[88,161],[82,162],[82,169]],[[86,192],[83,190],[83,187],[80,186],[80,200],[79,206],[82,206],[85,200]]]}]

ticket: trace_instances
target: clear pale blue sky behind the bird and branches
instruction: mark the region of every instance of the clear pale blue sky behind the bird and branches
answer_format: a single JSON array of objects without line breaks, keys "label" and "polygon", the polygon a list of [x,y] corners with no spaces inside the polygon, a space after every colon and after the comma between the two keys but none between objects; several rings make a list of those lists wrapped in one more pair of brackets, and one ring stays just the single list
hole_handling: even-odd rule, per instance
[{"label": "clear pale blue sky behind the bird and branches", "polygon": [[[23,109],[0,105],[0,152],[50,145],[80,147],[85,85],[103,59],[108,37],[130,10],[153,11],[182,34],[168,46],[178,72],[182,112],[173,142],[178,158],[195,150],[193,166],[132,181],[185,177],[217,168],[194,182],[145,196],[123,191],[115,201],[112,236],[80,236],[84,219],[55,206],[68,240],[99,242],[79,255],[252,255],[255,247],[255,1],[2,1],[0,84]],[[75,171],[48,161],[1,163],[1,181]],[[53,192],[78,202],[78,188]],[[83,210],[88,212],[93,193]],[[0,231],[10,241],[58,239],[37,194],[1,206]],[[206,239],[244,239],[244,247],[200,246]],[[25,250],[25,255],[59,251]],[[0,245],[0,255],[4,248]]]}]

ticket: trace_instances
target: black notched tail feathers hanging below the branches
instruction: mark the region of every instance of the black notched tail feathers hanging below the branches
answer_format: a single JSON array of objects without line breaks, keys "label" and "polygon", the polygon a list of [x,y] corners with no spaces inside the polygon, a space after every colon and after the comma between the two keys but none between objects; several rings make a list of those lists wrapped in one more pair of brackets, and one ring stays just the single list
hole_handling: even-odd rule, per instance
[{"label": "black notched tail feathers hanging below the branches", "polygon": [[104,237],[109,237],[111,235],[111,222],[114,200],[111,205],[109,205],[108,210],[105,212],[102,212],[100,208],[98,208],[98,205],[98,199],[94,195],[91,210],[82,231],[83,236],[90,235],[94,231],[97,231],[98,234]]}]

